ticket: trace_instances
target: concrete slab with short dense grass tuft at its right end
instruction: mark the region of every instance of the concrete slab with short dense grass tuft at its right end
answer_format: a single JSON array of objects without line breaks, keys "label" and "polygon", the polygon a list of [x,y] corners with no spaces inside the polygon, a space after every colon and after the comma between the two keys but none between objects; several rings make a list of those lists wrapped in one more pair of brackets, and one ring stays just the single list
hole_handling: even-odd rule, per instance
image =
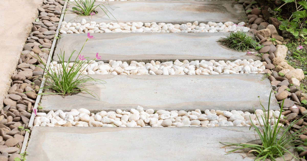
[{"label": "concrete slab with short dense grass tuft at its right end", "polygon": [[[151,60],[174,61],[176,59],[190,60],[231,60],[259,59],[258,56],[247,56],[246,52],[238,52],[226,48],[216,42],[229,33],[94,33],[95,39],[87,40],[81,55],[94,59],[96,52],[103,61],[132,60],[150,62]],[[65,51],[65,61],[68,61],[73,50],[71,61],[74,61],[87,34],[61,34],[62,38],[56,46]],[[59,61],[57,56],[54,61]],[[99,61],[99,60],[96,60]]]}]

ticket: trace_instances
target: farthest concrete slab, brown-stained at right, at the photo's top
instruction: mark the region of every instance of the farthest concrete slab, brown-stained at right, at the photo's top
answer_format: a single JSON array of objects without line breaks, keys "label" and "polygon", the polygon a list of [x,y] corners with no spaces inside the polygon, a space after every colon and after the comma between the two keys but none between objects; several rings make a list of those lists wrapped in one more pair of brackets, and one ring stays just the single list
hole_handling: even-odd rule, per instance
[{"label": "farthest concrete slab, brown-stained at right, at the photo's top", "polygon": [[[95,5],[102,4],[95,2]],[[109,6],[109,5],[110,6]],[[82,18],[87,21],[105,22],[166,22],[182,24],[198,21],[199,23],[227,22],[238,23],[246,17],[242,4],[232,4],[230,0],[220,1],[174,1],[174,0],[149,0],[149,1],[116,1],[103,4],[108,17],[100,7],[98,14],[87,17],[76,17],[72,7],[68,6],[68,14],[64,21],[80,22]],[[103,6],[101,6],[103,8]],[[116,8],[119,7],[119,8]],[[112,13],[113,16],[110,14]]]}]

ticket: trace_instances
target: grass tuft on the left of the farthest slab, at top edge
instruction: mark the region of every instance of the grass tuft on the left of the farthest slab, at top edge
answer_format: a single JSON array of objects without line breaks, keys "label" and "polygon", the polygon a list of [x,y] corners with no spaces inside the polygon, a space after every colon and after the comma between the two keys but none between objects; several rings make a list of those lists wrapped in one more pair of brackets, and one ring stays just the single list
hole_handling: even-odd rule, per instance
[{"label": "grass tuft on the left of the farthest slab, at top edge", "polygon": [[[66,1],[68,1],[68,0],[66,0]],[[72,11],[77,13],[79,16],[92,16],[92,15],[95,15],[95,14],[97,14],[97,11],[95,9],[97,7],[100,7],[101,10],[103,10],[103,8],[101,7],[101,6],[103,6],[103,4],[101,3],[99,5],[94,5],[94,2],[95,2],[95,0],[80,0],[80,2],[75,0],[75,3],[74,2],[71,2],[71,3],[73,5],[75,5],[75,6],[77,6],[77,7],[72,7]],[[103,7],[110,13],[110,11],[105,6],[103,6]],[[106,11],[104,11],[104,10],[103,10],[103,12],[106,13]],[[110,14],[112,15],[112,13],[110,13]],[[108,16],[107,13],[106,13],[106,15]],[[115,20],[116,20],[116,18],[115,18]]]}]

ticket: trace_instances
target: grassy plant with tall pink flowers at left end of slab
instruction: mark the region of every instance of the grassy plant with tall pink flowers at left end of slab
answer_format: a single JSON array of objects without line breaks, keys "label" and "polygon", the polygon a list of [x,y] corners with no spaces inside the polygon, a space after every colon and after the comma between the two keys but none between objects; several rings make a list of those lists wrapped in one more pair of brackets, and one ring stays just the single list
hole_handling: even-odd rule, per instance
[{"label": "grassy plant with tall pink flowers at left end of slab", "polygon": [[[94,38],[93,36],[90,36],[90,33],[87,33],[87,39],[84,42],[87,42],[87,40]],[[86,67],[92,62],[95,61],[95,59],[100,59],[101,56],[98,56],[98,53],[96,54],[96,58],[92,59],[92,60],[87,60],[87,57],[84,58],[84,56],[81,56],[80,53],[84,47],[84,45],[82,46],[78,57],[74,60],[74,62],[71,62],[71,58],[74,52],[76,52],[76,50],[74,50],[69,59],[68,59],[68,63],[66,63],[64,61],[64,56],[65,56],[65,51],[62,54],[57,54],[59,60],[60,60],[60,66],[62,66],[63,68],[61,69],[60,66],[54,66],[53,68],[55,69],[53,70],[49,70],[49,67],[47,67],[47,64],[43,64],[45,66],[45,72],[46,72],[46,82],[48,83],[47,86],[42,87],[42,89],[51,89],[54,91],[54,93],[42,93],[42,94],[60,94],[63,97],[67,96],[67,95],[71,95],[71,94],[76,94],[82,91],[87,92],[88,94],[91,94],[91,90],[87,89],[84,86],[84,83],[86,82],[92,82],[92,83],[103,83],[105,81],[102,81],[100,79],[94,79],[88,75],[81,75],[81,72],[84,71],[84,69],[86,69]],[[77,60],[79,59],[79,60]],[[42,68],[42,67],[41,67]],[[52,67],[50,67],[52,68]],[[63,70],[65,69],[65,70]],[[79,88],[79,86],[83,86],[82,88]],[[94,96],[93,94],[91,94],[92,96]],[[96,94],[97,95],[97,94]],[[98,96],[98,95],[97,95]],[[95,97],[95,96],[94,96]]]}]

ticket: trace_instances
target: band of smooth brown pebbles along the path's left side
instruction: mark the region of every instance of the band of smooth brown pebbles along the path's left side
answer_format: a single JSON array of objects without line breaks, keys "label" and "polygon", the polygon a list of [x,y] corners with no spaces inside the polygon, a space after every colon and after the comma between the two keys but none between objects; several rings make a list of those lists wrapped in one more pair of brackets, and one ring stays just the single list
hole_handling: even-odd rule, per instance
[{"label": "band of smooth brown pebbles along the path's left side", "polygon": [[[41,86],[43,63],[46,63],[64,1],[44,1],[39,7],[39,21],[33,22],[32,33],[26,40],[16,71],[12,75],[12,86],[3,100],[0,111],[0,160],[19,157],[31,111]],[[35,66],[37,65],[37,66]],[[42,68],[41,68],[42,67]],[[23,93],[27,92],[27,93]],[[18,128],[22,126],[23,128]]]}]

